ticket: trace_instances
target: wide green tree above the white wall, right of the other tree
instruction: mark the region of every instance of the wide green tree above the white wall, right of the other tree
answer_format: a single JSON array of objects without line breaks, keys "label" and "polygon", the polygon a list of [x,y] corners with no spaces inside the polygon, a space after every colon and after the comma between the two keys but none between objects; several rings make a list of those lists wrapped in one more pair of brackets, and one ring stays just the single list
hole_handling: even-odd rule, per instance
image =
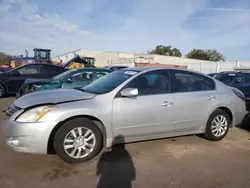
[{"label": "wide green tree above the white wall, right of the other tree", "polygon": [[207,61],[225,61],[225,56],[223,56],[220,52],[209,49],[209,50],[201,50],[201,49],[193,49],[187,55],[187,58],[192,59],[200,59]]}]

